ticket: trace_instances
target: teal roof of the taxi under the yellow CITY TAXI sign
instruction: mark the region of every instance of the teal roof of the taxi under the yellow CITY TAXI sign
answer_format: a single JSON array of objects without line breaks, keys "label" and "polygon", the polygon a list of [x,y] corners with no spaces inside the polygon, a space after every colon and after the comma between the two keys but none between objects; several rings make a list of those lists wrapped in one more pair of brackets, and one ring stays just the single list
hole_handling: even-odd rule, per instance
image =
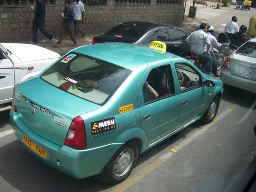
[{"label": "teal roof of the taxi under the yellow CITY TAXI sign", "polygon": [[169,52],[159,52],[146,46],[130,43],[97,43],[79,47],[73,52],[105,60],[131,71],[155,60],[180,58]]}]

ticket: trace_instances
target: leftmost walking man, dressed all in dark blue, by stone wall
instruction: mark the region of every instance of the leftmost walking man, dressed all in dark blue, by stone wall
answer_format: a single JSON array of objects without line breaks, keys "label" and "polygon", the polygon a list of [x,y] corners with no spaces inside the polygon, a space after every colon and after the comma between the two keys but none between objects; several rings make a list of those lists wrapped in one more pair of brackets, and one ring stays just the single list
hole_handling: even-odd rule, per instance
[{"label": "leftmost walking man, dressed all in dark blue, by stone wall", "polygon": [[41,31],[41,33],[44,34],[44,36],[50,40],[50,43],[52,43],[53,35],[47,32],[47,30],[44,28],[44,21],[45,21],[44,2],[42,0],[35,0],[35,1],[36,1],[35,9],[33,6],[31,6],[31,10],[32,12],[35,13],[35,17],[32,25],[33,38],[32,38],[32,41],[30,41],[29,43],[31,44],[38,43],[38,40],[37,40],[38,28]]}]

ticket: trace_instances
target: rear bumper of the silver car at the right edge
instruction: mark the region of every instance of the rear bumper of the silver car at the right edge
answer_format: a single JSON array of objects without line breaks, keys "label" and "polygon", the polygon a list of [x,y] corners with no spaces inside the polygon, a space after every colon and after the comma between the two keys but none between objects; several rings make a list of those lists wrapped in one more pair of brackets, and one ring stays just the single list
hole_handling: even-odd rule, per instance
[{"label": "rear bumper of the silver car at the right edge", "polygon": [[256,81],[238,77],[236,75],[231,75],[230,70],[225,67],[221,68],[220,79],[226,85],[256,93]]}]

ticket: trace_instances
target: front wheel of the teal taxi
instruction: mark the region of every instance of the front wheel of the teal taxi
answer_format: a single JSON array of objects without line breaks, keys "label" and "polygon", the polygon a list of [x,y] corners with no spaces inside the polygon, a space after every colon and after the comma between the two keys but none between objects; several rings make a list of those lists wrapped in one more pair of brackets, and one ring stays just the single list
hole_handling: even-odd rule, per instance
[{"label": "front wheel of the teal taxi", "polygon": [[204,123],[211,123],[212,120],[215,118],[217,112],[218,112],[218,107],[220,104],[220,99],[219,97],[215,97],[211,103],[209,104],[206,112],[204,113],[204,116],[202,117],[202,121]]}]

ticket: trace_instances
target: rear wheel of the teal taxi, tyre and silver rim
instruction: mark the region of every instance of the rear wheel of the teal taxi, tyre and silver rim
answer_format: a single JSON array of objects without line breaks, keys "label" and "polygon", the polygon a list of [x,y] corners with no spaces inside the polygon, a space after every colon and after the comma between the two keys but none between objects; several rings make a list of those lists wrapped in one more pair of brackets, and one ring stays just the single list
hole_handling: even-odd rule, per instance
[{"label": "rear wheel of the teal taxi, tyre and silver rim", "polygon": [[125,143],[109,160],[99,178],[109,183],[124,181],[136,165],[138,155],[139,151],[135,143]]}]

